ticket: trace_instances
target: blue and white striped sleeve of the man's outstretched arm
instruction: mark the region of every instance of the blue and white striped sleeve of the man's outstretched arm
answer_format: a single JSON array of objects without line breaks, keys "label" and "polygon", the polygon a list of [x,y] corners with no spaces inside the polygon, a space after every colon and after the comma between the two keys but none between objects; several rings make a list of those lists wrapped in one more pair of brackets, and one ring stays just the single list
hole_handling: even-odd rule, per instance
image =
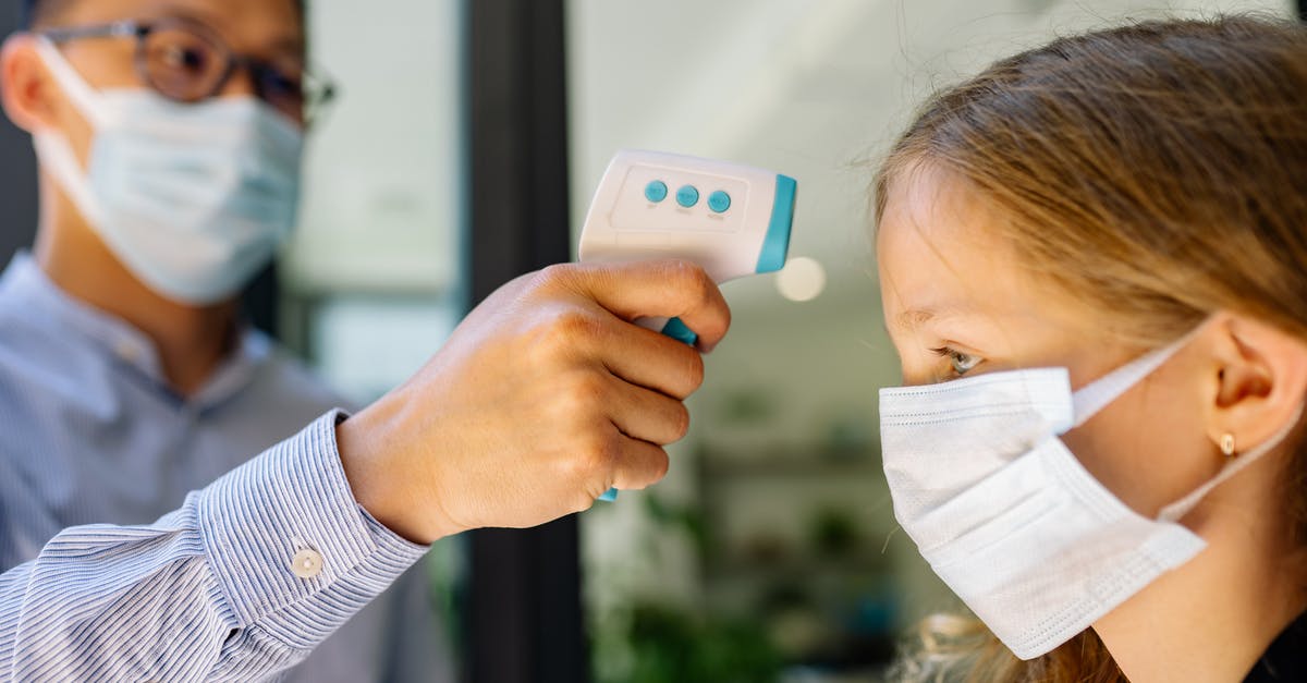
[{"label": "blue and white striped sleeve of the man's outstretched arm", "polygon": [[149,526],[78,526],[0,576],[0,680],[260,680],[426,547],[353,499],[339,411]]}]

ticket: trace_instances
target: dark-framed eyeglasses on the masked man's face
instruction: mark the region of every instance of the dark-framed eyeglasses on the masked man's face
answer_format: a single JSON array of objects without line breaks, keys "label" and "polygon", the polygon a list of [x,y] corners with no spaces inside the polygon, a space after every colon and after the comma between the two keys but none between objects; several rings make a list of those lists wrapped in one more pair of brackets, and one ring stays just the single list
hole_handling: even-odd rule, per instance
[{"label": "dark-framed eyeglasses on the masked man's face", "polygon": [[39,31],[55,43],[80,38],[135,38],[136,72],[146,85],[178,102],[217,96],[237,69],[244,69],[255,96],[308,126],[335,97],[329,79],[310,72],[303,60],[263,60],[235,54],[212,29],[182,17],[115,21]]}]

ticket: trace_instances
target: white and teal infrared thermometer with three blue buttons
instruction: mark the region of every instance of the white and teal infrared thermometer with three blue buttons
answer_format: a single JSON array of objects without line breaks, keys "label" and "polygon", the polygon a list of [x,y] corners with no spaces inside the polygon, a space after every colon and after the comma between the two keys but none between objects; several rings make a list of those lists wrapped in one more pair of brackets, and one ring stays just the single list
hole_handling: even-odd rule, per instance
[{"label": "white and teal infrared thermometer with three blue buttons", "polygon": [[[621,150],[586,215],[582,262],[677,258],[718,284],[779,271],[789,253],[799,183],[779,173],[661,152]],[[677,318],[637,324],[694,345]],[[610,489],[600,500],[616,500]]]}]

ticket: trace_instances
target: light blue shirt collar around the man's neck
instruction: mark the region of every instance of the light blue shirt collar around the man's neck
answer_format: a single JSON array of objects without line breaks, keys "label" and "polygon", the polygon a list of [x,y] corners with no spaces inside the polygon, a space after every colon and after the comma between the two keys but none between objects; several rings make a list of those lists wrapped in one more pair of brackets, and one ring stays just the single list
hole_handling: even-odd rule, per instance
[{"label": "light blue shirt collar around the man's neck", "polygon": [[195,395],[176,396],[163,377],[154,343],[125,321],[89,306],[59,288],[30,254],[14,255],[0,276],[0,298],[14,302],[25,318],[47,330],[72,332],[107,353],[116,364],[142,376],[159,390],[196,408],[212,407],[231,398],[255,379],[255,372],[272,355],[271,340],[254,328],[240,334],[235,352],[218,365],[213,377]]}]

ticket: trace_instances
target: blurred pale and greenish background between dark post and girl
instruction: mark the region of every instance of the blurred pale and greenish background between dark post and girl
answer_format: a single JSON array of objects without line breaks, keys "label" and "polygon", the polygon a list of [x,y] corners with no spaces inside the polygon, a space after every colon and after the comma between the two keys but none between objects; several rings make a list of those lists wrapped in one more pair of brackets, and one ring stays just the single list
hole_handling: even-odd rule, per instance
[{"label": "blurred pale and greenish background between dark post and girl", "polygon": [[999,56],[1106,21],[1263,3],[572,0],[574,215],[620,148],[799,181],[792,262],[728,284],[668,480],[582,521],[595,680],[878,680],[954,607],[898,530],[877,389],[899,382],[869,184],[914,106]]}]

